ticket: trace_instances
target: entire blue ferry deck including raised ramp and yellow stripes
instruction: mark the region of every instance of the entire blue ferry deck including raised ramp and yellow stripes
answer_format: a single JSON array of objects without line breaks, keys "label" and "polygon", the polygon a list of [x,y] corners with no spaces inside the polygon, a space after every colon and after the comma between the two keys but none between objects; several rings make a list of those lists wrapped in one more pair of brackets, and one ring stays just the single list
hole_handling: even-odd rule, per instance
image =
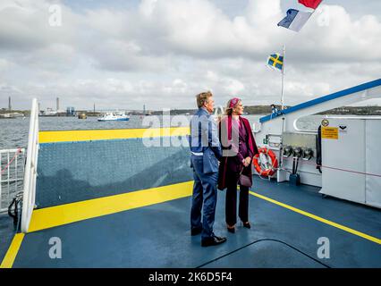
[{"label": "entire blue ferry deck including raised ramp and yellow stripes", "polygon": [[256,175],[251,229],[226,230],[218,191],[214,230],[227,242],[202,248],[190,236],[189,148],[161,144],[187,132],[40,132],[38,208],[27,233],[0,216],[0,267],[381,267],[380,209]]}]

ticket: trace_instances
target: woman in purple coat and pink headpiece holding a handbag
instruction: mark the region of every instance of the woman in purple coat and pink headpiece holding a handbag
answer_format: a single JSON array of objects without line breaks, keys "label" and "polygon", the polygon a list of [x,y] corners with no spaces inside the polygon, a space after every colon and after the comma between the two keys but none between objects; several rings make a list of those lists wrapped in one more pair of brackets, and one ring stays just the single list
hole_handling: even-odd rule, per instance
[{"label": "woman in purple coat and pink headpiece holding a handbag", "polygon": [[[223,158],[219,166],[218,189],[226,189],[225,220],[227,230],[235,232],[237,222],[237,184],[241,174],[252,185],[251,160],[258,154],[258,147],[251,131],[250,122],[241,117],[241,99],[234,97],[227,102],[225,115],[219,123],[219,135]],[[238,215],[243,226],[250,229],[249,187],[240,185]]]}]

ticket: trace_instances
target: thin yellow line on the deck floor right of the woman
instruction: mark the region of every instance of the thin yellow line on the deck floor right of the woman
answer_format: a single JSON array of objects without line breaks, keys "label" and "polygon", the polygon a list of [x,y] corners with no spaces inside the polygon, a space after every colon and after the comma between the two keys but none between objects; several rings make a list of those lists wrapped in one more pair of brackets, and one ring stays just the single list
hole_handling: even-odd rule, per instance
[{"label": "thin yellow line on the deck floor right of the woman", "polygon": [[347,231],[347,232],[350,232],[351,234],[354,234],[354,235],[357,235],[357,236],[360,236],[361,238],[365,239],[365,240],[370,240],[370,241],[373,241],[373,242],[376,242],[377,244],[381,244],[381,240],[380,239],[377,239],[373,236],[370,236],[368,234],[365,234],[363,232],[360,232],[360,231],[356,231],[356,230],[353,230],[349,227],[346,227],[346,226],[343,226],[342,224],[339,224],[339,223],[334,223],[332,221],[329,221],[329,220],[326,220],[325,218],[322,218],[318,215],[315,215],[315,214],[310,214],[308,212],[305,212],[305,211],[302,211],[301,209],[299,208],[296,208],[296,207],[293,207],[293,206],[289,206],[289,205],[286,205],[284,203],[281,203],[281,202],[278,202],[276,201],[275,199],[272,199],[272,198],[267,198],[265,196],[262,196],[262,195],[259,195],[258,193],[255,193],[253,191],[250,191],[250,194],[257,197],[257,198],[262,198],[264,200],[267,200],[268,202],[270,203],[273,203],[275,205],[278,205],[278,206],[283,206],[284,208],[287,208],[289,210],[292,210],[293,212],[295,213],[298,213],[298,214],[302,214],[302,215],[305,215],[305,216],[308,216],[309,218],[312,218],[314,220],[317,220],[321,223],[326,223],[328,225],[331,225],[337,229],[340,229],[342,231]]}]

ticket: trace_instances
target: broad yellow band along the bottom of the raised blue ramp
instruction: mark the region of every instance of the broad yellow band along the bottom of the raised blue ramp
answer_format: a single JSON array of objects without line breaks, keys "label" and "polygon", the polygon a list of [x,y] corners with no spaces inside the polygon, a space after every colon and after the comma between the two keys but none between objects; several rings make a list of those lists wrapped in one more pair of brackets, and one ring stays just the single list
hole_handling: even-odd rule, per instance
[{"label": "broad yellow band along the bottom of the raised blue ramp", "polygon": [[132,208],[164,203],[176,198],[189,197],[193,181],[165,187],[143,189],[105,198],[94,198],[61,206],[36,209],[32,213],[28,232],[80,222],[106,214],[115,214]]}]

